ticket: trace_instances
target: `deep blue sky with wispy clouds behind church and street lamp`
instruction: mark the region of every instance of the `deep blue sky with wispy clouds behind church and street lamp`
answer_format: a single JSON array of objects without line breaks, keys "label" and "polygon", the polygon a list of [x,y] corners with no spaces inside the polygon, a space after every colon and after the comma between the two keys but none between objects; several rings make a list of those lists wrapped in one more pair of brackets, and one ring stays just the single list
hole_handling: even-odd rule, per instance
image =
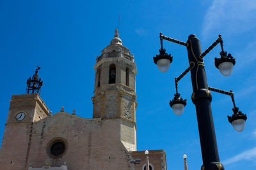
[{"label": "deep blue sky with wispy clouds behind church and street lamp", "polygon": [[[188,67],[187,51],[163,41],[173,62],[161,73],[152,57],[160,48],[159,32],[180,41],[196,34],[204,51],[223,36],[224,49],[236,58],[233,73],[224,77],[214,66],[220,57],[216,46],[205,58],[210,87],[233,90],[236,105],[248,115],[243,132],[227,120],[232,114],[229,96],[212,92],[212,114],[220,160],[225,169],[256,169],[256,2],[214,1],[0,1],[0,136],[13,94],[24,94],[26,80],[41,66],[44,81],[41,97],[56,113],[65,111],[92,118],[95,72],[100,51],[109,45],[120,15],[120,38],[134,53],[138,74],[138,150],[164,149],[168,169],[200,169],[202,156],[191,101],[190,75],[179,81],[179,92],[187,99],[179,117],[168,102],[175,92],[174,78]],[[2,137],[0,137],[2,138]]]}]

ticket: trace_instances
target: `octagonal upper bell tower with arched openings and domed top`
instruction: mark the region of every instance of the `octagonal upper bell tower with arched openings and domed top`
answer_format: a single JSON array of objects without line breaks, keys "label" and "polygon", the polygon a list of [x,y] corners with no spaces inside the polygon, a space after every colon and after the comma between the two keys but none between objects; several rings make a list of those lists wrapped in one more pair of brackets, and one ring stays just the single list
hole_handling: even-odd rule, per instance
[{"label": "octagonal upper bell tower with arched openings and domed top", "polygon": [[93,118],[136,122],[136,64],[130,50],[122,45],[117,29],[110,45],[97,57],[94,69]]}]

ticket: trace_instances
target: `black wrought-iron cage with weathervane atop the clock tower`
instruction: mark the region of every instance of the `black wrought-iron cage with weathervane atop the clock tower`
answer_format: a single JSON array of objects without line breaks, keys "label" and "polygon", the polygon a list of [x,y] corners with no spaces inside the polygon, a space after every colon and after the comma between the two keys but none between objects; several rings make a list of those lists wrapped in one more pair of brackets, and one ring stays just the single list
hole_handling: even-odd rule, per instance
[{"label": "black wrought-iron cage with weathervane atop the clock tower", "polygon": [[27,90],[26,94],[40,94],[41,87],[43,85],[43,81],[41,81],[41,78],[38,76],[38,70],[40,70],[41,67],[36,66],[35,74],[27,80]]}]

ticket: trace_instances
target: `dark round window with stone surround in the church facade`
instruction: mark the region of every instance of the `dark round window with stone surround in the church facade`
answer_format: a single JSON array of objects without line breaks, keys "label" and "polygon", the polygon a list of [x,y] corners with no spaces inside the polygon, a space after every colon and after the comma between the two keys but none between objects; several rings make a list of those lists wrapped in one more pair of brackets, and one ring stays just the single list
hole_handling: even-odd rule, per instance
[{"label": "dark round window with stone surround in the church facade", "polygon": [[52,158],[59,158],[67,152],[67,141],[63,138],[52,139],[47,146],[47,153]]}]

